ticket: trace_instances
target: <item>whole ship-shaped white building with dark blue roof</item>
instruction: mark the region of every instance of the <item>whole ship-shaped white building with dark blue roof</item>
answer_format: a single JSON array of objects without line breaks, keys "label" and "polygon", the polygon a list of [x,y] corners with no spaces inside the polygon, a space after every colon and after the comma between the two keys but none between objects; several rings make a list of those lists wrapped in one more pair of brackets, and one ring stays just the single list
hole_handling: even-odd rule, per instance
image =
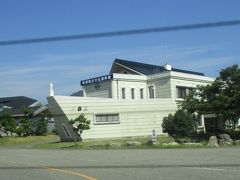
[{"label": "whole ship-shaped white building with dark blue roof", "polygon": [[214,78],[171,65],[115,59],[110,73],[81,81],[83,97],[50,96],[49,108],[62,141],[75,139],[68,121],[84,113],[91,121],[83,139],[162,134],[162,120],[197,85]]}]

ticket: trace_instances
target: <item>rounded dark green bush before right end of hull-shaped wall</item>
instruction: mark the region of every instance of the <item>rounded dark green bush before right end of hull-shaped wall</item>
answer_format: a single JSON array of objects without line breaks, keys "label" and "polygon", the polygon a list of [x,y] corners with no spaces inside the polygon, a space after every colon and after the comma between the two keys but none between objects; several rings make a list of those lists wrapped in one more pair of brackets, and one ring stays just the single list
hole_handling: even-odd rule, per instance
[{"label": "rounded dark green bush before right end of hull-shaped wall", "polygon": [[191,135],[194,131],[194,118],[191,114],[179,109],[174,115],[169,114],[163,118],[162,128],[164,133],[168,133],[177,141],[179,137]]}]

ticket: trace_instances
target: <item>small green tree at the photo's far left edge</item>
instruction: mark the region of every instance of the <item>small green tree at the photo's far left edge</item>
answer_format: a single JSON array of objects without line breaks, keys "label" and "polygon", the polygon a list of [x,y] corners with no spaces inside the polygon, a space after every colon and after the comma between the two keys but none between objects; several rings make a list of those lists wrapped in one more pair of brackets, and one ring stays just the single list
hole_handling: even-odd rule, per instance
[{"label": "small green tree at the photo's far left edge", "polygon": [[0,128],[1,130],[6,133],[8,136],[8,133],[10,132],[11,135],[12,133],[16,132],[16,121],[12,117],[12,113],[9,110],[3,111],[3,113],[0,116]]}]

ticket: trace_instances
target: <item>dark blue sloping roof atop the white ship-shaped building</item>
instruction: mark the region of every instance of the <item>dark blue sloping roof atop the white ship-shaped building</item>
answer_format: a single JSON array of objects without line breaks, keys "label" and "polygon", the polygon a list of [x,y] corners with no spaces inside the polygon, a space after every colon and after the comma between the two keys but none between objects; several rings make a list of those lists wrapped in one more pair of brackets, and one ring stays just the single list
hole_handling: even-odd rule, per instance
[{"label": "dark blue sloping roof atop the white ship-shaped building", "polygon": [[[123,66],[126,66],[144,75],[151,75],[151,74],[156,74],[156,72],[160,73],[160,72],[166,71],[163,66],[157,66],[152,64],[139,63],[139,62],[128,61],[123,59],[115,59],[114,62],[121,64]],[[204,74],[200,72],[187,71],[187,70],[176,69],[176,68],[172,68],[172,71],[204,76]]]}]

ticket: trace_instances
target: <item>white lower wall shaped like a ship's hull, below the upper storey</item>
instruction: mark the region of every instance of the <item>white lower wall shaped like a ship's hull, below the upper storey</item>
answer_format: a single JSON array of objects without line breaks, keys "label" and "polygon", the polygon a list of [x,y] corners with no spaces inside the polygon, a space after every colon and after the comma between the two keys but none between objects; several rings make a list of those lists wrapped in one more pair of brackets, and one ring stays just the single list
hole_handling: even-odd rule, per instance
[{"label": "white lower wall shaped like a ship's hull, below the upper storey", "polygon": [[[74,119],[84,113],[91,121],[91,129],[84,131],[84,139],[110,138],[127,136],[151,135],[155,129],[157,134],[162,134],[162,120],[169,113],[176,111],[175,101],[171,99],[146,99],[146,100],[119,100],[112,98],[84,98],[55,96],[49,97],[53,115],[67,119]],[[56,104],[60,108],[57,108]],[[81,106],[81,111],[78,107]],[[119,124],[96,124],[95,116],[99,114],[119,114]],[[60,123],[60,121],[58,121]],[[58,123],[56,122],[56,123]]]}]

